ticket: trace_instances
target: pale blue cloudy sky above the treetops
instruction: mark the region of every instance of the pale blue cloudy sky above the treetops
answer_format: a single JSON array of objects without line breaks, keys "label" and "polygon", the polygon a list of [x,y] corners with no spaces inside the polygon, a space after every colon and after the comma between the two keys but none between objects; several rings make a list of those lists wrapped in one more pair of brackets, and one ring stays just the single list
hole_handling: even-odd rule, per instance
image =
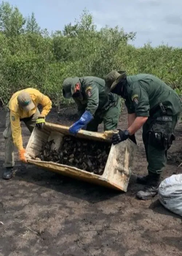
[{"label": "pale blue cloudy sky above the treetops", "polygon": [[[182,47],[182,0],[7,0],[24,16],[35,13],[41,29],[62,30],[79,19],[84,8],[97,29],[106,25],[137,32],[131,44]],[[1,2],[1,0],[0,0]]]}]

